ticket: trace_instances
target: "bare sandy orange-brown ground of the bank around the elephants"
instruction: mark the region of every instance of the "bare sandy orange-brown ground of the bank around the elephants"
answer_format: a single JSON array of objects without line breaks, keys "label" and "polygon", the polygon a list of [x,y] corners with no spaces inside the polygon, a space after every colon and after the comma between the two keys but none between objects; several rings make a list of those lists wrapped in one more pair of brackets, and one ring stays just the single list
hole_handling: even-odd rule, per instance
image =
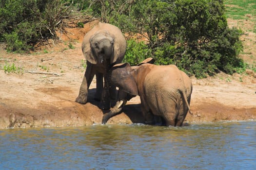
[{"label": "bare sandy orange-brown ground of the bank around the elephants", "polygon": [[[234,20],[229,23],[236,26]],[[0,46],[0,68],[13,63],[22,68],[20,73],[5,73],[0,69],[0,128],[85,126],[101,122],[100,103],[93,100],[95,79],[90,86],[89,102],[85,105],[74,102],[85,71],[81,40],[93,24],[66,29],[66,34],[59,33],[62,43],[29,55],[7,53]],[[245,47],[241,57],[254,63],[255,33],[241,38]],[[69,42],[75,49],[68,47]],[[250,70],[247,73],[233,76],[219,73],[201,80],[192,77],[190,105],[194,114],[188,114],[185,123],[256,119],[256,75]],[[139,122],[143,122],[139,97],[129,101],[120,115],[108,121]]]}]

